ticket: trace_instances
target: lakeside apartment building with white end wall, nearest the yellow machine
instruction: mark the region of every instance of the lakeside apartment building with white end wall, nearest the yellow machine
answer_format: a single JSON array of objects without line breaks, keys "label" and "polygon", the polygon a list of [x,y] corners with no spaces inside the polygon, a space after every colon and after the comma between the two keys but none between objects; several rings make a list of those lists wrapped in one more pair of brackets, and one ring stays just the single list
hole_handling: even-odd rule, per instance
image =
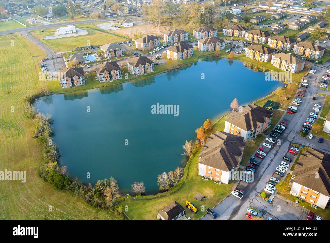
[{"label": "lakeside apartment building with white end wall, nearest the yellow machine", "polygon": [[198,175],[228,184],[243,157],[245,142],[241,136],[216,131],[198,156]]}]

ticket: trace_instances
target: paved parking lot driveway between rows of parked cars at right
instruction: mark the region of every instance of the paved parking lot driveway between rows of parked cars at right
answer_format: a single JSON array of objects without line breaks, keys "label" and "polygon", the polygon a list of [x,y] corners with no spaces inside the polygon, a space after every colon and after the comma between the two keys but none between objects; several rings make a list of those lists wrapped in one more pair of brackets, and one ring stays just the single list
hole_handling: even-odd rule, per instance
[{"label": "paved parking lot driveway between rows of parked cars at right", "polygon": [[[322,103],[324,97],[317,96],[318,100],[313,101],[312,97],[321,93],[317,82],[324,73],[325,67],[329,66],[329,63],[325,63],[323,66],[313,65],[312,67],[317,69],[314,75],[311,75],[309,80],[309,88],[302,99],[303,102],[298,108],[296,114],[285,114],[283,120],[288,122],[287,128],[279,137],[281,139],[280,145],[274,145],[272,149],[267,153],[267,156],[258,166],[254,174],[254,182],[247,184],[240,182],[238,187],[245,191],[243,199],[239,200],[233,195],[229,195],[222,202],[215,206],[214,211],[218,215],[216,220],[248,220],[245,218],[245,213],[248,206],[252,206],[262,211],[265,215],[265,219],[272,217],[277,220],[304,220],[308,215],[308,210],[302,210],[295,205],[288,203],[278,197],[273,199],[270,204],[257,195],[262,191],[265,184],[270,177],[276,177],[278,179],[284,179],[280,176],[274,176],[275,168],[283,160],[282,157],[288,149],[292,146],[291,143],[298,143],[310,146],[312,148],[321,150],[323,152],[330,153],[330,142],[324,141],[318,143],[317,138],[305,139],[298,133],[300,132],[301,125],[305,119],[309,116],[314,103]],[[325,92],[325,91],[324,91]],[[294,158],[295,159],[295,158]],[[292,166],[293,163],[291,163]],[[290,168],[289,168],[290,170]],[[286,173],[285,173],[286,174]],[[210,215],[205,215],[201,220],[213,220]]]}]

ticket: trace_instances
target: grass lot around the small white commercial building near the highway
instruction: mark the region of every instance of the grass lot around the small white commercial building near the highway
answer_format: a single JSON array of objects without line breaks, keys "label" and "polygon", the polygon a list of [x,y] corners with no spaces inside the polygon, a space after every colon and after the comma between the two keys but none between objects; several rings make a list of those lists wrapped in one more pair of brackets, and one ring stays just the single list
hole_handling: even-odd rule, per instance
[{"label": "grass lot around the small white commercial building near the highway", "polygon": [[64,37],[51,40],[43,40],[46,36],[54,35],[56,28],[43,29],[44,32],[32,30],[30,33],[54,52],[63,52],[74,50],[82,46],[104,45],[110,42],[119,42],[125,40],[122,37],[106,33],[105,31],[97,30],[97,27],[91,24],[76,25],[77,28],[87,29],[88,35]]}]

